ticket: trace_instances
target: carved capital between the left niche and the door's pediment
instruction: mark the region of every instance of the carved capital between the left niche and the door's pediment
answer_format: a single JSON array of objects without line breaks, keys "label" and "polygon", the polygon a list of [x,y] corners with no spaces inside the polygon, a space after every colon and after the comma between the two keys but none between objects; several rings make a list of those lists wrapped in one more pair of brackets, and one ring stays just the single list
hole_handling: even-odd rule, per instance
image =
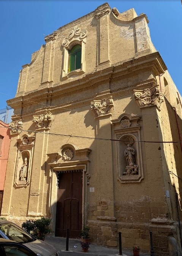
[{"label": "carved capital between the left niche and the door's pediment", "polygon": [[52,124],[52,114],[49,111],[49,113],[40,114],[39,116],[33,116],[33,122],[35,123],[35,126],[37,129],[44,129],[44,128],[50,128]]}]

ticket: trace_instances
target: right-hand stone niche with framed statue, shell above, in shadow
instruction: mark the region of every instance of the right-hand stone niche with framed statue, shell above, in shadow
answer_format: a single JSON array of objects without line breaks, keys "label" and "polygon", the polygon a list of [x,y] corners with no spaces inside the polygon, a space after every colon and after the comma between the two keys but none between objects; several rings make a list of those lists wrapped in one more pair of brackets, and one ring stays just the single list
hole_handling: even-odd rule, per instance
[{"label": "right-hand stone niche with framed statue, shell above, in shadow", "polygon": [[117,178],[121,183],[140,182],[143,178],[139,119],[134,114],[122,114],[112,120],[117,140]]}]

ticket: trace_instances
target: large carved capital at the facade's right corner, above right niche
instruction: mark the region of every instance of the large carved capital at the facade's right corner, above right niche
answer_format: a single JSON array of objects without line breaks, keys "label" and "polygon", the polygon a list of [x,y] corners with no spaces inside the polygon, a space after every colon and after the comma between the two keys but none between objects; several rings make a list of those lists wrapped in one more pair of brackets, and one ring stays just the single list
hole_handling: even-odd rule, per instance
[{"label": "large carved capital at the facade's right corner, above right niche", "polygon": [[164,96],[159,92],[158,87],[134,90],[134,96],[140,107],[156,106],[160,110],[160,105],[164,101]]}]

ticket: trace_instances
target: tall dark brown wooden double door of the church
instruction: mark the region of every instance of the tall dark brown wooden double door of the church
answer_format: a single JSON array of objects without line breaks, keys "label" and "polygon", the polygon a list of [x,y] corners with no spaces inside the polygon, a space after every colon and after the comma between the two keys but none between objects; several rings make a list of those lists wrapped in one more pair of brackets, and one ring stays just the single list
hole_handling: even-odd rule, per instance
[{"label": "tall dark brown wooden double door of the church", "polygon": [[78,238],[82,229],[82,170],[60,172],[58,175],[58,196],[55,236]]}]

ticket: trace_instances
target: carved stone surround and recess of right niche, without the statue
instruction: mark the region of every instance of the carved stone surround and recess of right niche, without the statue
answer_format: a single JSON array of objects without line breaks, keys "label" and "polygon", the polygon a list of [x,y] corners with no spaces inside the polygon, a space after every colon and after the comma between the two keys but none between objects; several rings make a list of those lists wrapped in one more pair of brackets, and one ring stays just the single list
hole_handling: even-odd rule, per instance
[{"label": "carved stone surround and recess of right niche, without the statue", "polygon": [[[141,149],[141,136],[140,129],[141,126],[138,124],[140,117],[131,114],[122,114],[118,119],[112,120],[112,124],[114,124],[114,134],[116,142],[116,169],[117,169],[117,179],[121,183],[134,183],[141,182],[144,178],[143,175],[143,164],[142,164],[142,149]],[[136,175],[123,175],[125,167],[123,165],[122,158],[123,151],[126,148],[124,147],[125,138],[131,138],[135,143],[135,149],[137,152],[137,165],[138,165],[138,174]],[[121,143],[123,144],[121,146]],[[121,150],[121,148],[123,148]]]}]

